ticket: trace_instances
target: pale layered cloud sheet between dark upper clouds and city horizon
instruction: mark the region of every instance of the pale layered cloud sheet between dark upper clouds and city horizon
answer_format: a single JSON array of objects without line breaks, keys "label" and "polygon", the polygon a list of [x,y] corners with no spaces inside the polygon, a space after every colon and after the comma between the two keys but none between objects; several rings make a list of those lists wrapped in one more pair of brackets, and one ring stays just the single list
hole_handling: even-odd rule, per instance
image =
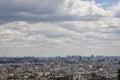
[{"label": "pale layered cloud sheet between dark upper clouds and city horizon", "polygon": [[[106,18],[91,22],[10,22],[0,25],[0,47],[8,50],[17,48],[18,51],[22,49],[23,51],[20,52],[26,55],[34,53],[40,55],[39,48],[46,55],[50,52],[54,55],[62,55],[60,53],[66,53],[65,55],[91,54],[91,52],[108,55],[106,50],[109,49],[117,54],[116,51],[119,51],[120,47],[119,21],[118,18]],[[93,51],[89,51],[91,49]],[[3,52],[3,50],[0,51]],[[8,50],[4,52],[13,52],[7,52]],[[30,53],[26,50],[36,51],[34,53],[30,51]],[[111,55],[112,52],[110,52]]]}]

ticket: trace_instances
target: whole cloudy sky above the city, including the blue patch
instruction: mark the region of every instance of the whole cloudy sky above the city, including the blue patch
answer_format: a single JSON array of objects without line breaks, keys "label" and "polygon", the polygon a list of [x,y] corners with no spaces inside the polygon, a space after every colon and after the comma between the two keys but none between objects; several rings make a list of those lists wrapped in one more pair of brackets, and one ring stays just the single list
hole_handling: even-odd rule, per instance
[{"label": "whole cloudy sky above the city, including the blue patch", "polygon": [[0,56],[120,56],[120,0],[0,0]]}]

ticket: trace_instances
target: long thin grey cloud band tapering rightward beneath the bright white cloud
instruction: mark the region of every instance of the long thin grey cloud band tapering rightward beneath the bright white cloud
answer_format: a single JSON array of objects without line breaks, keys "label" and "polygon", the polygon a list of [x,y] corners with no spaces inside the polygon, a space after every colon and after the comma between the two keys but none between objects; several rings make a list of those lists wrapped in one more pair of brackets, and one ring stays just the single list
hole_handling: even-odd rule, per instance
[{"label": "long thin grey cloud band tapering rightward beneath the bright white cloud", "polygon": [[101,17],[92,16],[73,16],[73,15],[19,15],[19,14],[4,14],[1,15],[1,23],[13,21],[28,21],[28,22],[63,22],[63,21],[98,21]]}]

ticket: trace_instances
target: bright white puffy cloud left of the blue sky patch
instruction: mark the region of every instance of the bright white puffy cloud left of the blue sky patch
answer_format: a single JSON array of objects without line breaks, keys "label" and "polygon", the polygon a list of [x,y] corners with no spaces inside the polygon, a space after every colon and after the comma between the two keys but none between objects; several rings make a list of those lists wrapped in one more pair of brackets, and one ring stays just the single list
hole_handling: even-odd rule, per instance
[{"label": "bright white puffy cloud left of the blue sky patch", "polygon": [[107,12],[94,1],[65,0],[63,12],[76,16],[106,16]]}]

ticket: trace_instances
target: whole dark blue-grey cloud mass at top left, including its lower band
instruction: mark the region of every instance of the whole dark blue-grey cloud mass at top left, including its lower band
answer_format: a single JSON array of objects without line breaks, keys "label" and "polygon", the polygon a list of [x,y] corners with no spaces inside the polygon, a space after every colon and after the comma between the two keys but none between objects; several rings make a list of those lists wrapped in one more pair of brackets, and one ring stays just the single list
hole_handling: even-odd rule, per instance
[{"label": "whole dark blue-grey cloud mass at top left, including its lower band", "polygon": [[0,0],[0,22],[46,21],[49,15],[56,15],[61,3],[62,0]]}]

